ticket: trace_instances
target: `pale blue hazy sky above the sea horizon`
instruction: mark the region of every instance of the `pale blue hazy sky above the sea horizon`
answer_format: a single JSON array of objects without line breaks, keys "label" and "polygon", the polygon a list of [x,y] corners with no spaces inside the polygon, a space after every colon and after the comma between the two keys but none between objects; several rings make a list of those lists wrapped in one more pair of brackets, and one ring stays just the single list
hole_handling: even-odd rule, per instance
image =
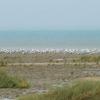
[{"label": "pale blue hazy sky above the sea horizon", "polygon": [[0,30],[99,28],[100,0],[0,0]]}]

